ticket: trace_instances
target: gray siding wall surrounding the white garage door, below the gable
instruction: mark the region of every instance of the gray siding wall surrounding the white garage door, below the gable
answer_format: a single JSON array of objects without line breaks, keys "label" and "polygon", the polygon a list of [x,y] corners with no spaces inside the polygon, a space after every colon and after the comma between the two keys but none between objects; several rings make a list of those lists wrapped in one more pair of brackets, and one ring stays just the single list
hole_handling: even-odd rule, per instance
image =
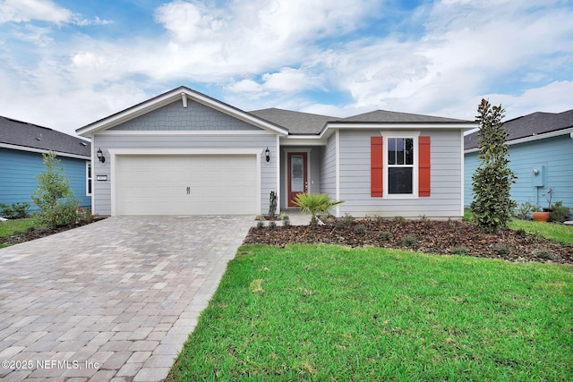
[{"label": "gray siding wall surrounding the white garage door, below the gable", "polygon": [[[269,193],[277,191],[277,137],[275,134],[167,134],[167,135],[106,135],[93,139],[95,148],[101,148],[106,163],[94,164],[95,213],[111,215],[111,177],[109,149],[259,149],[261,150],[261,212],[269,211]],[[269,147],[270,161],[264,160],[264,150]],[[107,175],[107,181],[97,181],[98,175]]]}]

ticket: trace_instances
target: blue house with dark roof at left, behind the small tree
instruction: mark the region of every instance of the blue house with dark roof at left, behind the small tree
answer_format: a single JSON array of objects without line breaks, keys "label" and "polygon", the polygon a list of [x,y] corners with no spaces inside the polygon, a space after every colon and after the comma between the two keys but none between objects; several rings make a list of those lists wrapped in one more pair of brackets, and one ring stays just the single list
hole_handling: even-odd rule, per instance
[{"label": "blue house with dark roof at left, behind the small tree", "polygon": [[0,116],[0,203],[29,202],[38,188],[36,175],[46,166],[42,154],[56,152],[82,208],[91,207],[89,141],[47,127]]}]

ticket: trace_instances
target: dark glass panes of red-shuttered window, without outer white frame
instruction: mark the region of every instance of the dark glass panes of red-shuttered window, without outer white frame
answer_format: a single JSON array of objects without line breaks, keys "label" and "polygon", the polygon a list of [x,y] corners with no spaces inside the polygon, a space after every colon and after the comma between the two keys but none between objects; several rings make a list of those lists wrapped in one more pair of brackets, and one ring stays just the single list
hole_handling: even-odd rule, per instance
[{"label": "dark glass panes of red-shuttered window, without outer white frame", "polygon": [[414,139],[388,139],[388,193],[414,193]]}]

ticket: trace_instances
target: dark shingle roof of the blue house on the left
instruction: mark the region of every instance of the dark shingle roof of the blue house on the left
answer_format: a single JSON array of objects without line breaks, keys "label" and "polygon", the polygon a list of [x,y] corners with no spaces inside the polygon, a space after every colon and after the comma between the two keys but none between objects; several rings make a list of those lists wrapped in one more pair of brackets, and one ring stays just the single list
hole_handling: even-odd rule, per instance
[{"label": "dark shingle roof of the blue house on the left", "polygon": [[0,147],[35,152],[56,151],[58,154],[88,159],[91,156],[89,141],[4,116],[0,116]]}]

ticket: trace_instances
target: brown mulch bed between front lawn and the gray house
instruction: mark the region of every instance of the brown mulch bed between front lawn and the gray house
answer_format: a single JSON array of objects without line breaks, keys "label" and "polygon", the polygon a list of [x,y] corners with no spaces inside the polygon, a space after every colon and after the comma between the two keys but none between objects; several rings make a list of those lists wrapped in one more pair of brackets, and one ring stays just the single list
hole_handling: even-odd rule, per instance
[{"label": "brown mulch bed between front lawn and the gray house", "polygon": [[[406,236],[413,236],[406,238]],[[412,243],[414,242],[414,243]],[[462,221],[355,220],[344,218],[327,225],[251,228],[245,244],[329,243],[352,247],[375,246],[425,253],[465,254],[511,261],[573,264],[573,245],[554,242],[523,230],[486,233]]]}]

